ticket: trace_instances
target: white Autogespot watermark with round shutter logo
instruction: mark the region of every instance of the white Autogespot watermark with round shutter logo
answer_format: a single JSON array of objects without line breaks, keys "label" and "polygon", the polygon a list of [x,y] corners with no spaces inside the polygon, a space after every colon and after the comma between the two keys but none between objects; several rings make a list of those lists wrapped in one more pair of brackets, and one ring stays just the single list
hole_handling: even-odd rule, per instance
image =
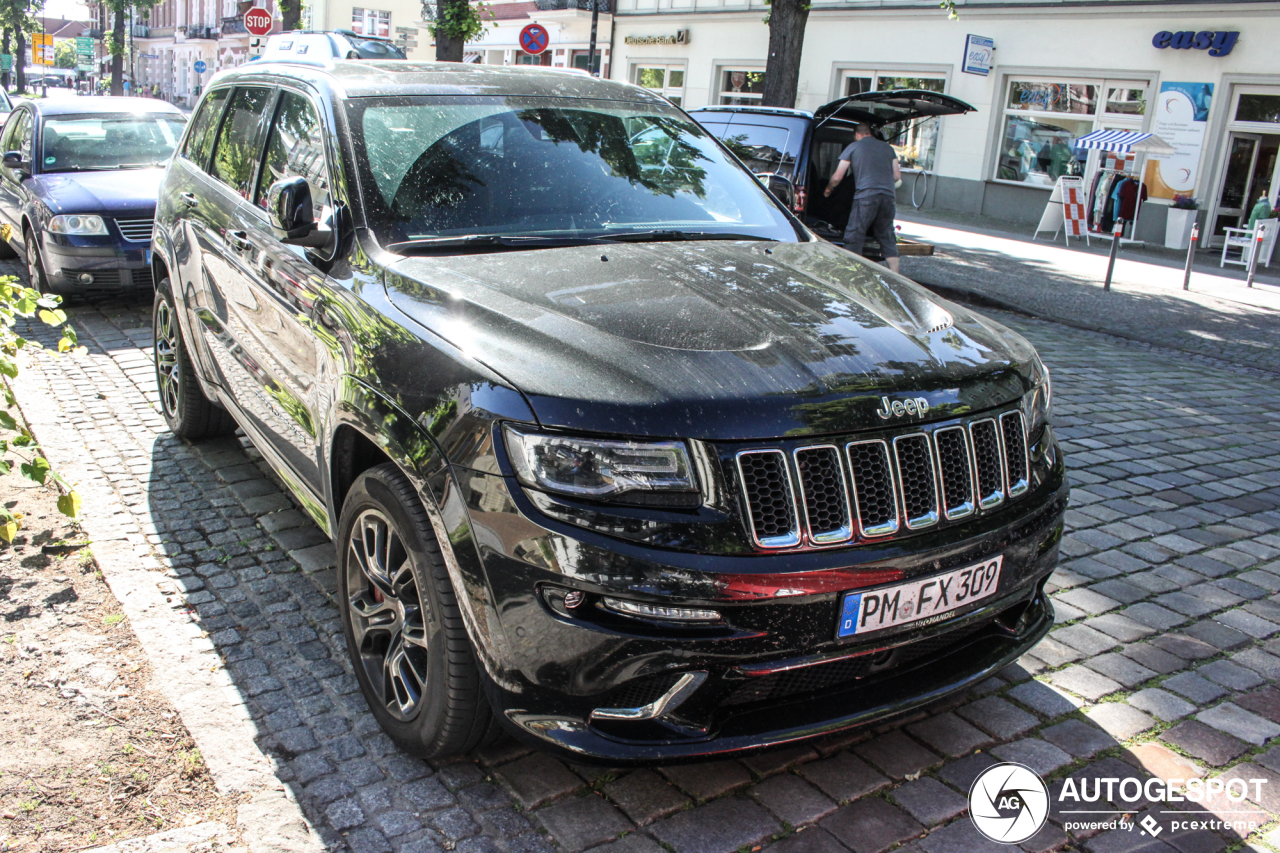
[{"label": "white Autogespot watermark with round shutter logo", "polygon": [[[1155,838],[1166,829],[1207,829],[1244,838],[1270,820],[1266,812],[1251,808],[1248,802],[1260,802],[1267,784],[1266,779],[1068,777],[1056,794],[1051,794],[1034,770],[1006,762],[988,767],[974,779],[969,789],[969,817],[979,833],[1001,844],[1020,844],[1036,835],[1055,804],[1062,829],[1069,833],[1125,830]],[[1169,803],[1212,804],[1213,808],[1160,808]],[[1133,813],[1148,808],[1152,811],[1134,822]]]}]

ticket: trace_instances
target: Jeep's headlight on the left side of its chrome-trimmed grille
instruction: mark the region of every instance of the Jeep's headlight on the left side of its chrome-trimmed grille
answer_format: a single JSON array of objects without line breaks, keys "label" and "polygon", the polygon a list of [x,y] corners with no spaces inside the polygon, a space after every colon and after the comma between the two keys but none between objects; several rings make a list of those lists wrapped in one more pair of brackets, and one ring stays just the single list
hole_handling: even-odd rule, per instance
[{"label": "Jeep's headlight on the left side of its chrome-trimmed grille", "polygon": [[[689,506],[698,497],[684,442],[626,442],[506,428],[507,453],[525,485],[621,503]],[[684,498],[684,500],[681,500]]]}]

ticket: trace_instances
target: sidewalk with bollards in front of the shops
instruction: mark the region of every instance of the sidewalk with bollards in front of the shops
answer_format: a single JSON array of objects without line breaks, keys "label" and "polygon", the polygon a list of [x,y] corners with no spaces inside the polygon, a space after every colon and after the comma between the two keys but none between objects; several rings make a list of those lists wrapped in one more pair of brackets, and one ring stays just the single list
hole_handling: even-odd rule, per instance
[{"label": "sidewalk with bollards in front of the shops", "polygon": [[899,224],[904,237],[937,247],[932,257],[902,259],[902,272],[946,295],[1280,373],[1280,265],[1260,270],[1247,288],[1240,268],[1221,269],[1216,251],[1198,252],[1183,291],[1185,255],[1123,247],[1106,292],[1106,240],[1065,248],[1061,237],[1032,241],[1029,227],[916,211],[900,211]]}]

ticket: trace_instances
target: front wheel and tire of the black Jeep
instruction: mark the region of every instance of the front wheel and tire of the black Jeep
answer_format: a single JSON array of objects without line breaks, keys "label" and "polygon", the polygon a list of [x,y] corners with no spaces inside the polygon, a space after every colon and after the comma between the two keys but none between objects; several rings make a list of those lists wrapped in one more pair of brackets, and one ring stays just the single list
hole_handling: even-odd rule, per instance
[{"label": "front wheel and tire of the black Jeep", "polygon": [[342,630],[365,701],[406,752],[442,758],[499,731],[426,510],[393,464],[352,484],[338,524]]}]

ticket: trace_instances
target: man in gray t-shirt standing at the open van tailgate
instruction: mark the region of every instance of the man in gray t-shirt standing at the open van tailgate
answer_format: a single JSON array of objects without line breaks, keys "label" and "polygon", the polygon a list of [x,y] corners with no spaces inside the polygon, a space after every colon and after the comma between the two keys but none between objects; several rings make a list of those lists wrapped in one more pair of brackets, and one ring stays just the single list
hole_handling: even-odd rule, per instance
[{"label": "man in gray t-shirt standing at the open van tailgate", "polygon": [[897,213],[895,188],[902,179],[897,164],[897,154],[883,140],[877,140],[868,124],[859,124],[854,141],[840,152],[840,164],[823,191],[832,191],[854,173],[854,207],[849,211],[849,225],[845,228],[845,248],[858,255],[863,254],[867,233],[876,237],[888,268],[897,272],[897,236],[893,233],[893,216]]}]

